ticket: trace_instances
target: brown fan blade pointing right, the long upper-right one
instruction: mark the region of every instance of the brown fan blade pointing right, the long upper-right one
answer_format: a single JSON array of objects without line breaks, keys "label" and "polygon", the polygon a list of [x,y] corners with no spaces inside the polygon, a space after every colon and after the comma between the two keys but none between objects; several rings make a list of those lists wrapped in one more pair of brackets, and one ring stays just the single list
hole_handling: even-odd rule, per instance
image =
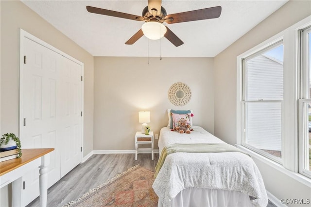
[{"label": "brown fan blade pointing right, the long upper-right one", "polygon": [[172,15],[167,15],[165,17],[165,22],[169,24],[187,22],[187,21],[197,21],[210,18],[218,18],[222,13],[222,7],[210,7],[206,9],[193,10],[189,12],[181,12]]}]

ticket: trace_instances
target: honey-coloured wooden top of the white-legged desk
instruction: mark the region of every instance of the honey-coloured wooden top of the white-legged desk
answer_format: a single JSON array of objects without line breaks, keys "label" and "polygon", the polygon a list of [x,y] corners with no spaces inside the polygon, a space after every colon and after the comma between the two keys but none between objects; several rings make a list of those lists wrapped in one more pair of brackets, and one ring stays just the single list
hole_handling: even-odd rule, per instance
[{"label": "honey-coloured wooden top of the white-legged desk", "polygon": [[0,162],[0,176],[9,173],[20,166],[23,166],[43,155],[46,155],[52,152],[54,148],[42,148],[42,149],[22,149],[21,158],[9,159],[3,162]]}]

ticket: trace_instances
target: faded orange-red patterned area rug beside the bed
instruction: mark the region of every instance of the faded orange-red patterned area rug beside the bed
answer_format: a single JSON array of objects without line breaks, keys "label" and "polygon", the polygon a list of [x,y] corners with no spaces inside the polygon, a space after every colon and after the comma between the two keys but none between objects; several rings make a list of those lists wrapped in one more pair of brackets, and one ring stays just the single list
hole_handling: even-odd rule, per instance
[{"label": "faded orange-red patterned area rug beside the bed", "polygon": [[134,166],[63,207],[157,207],[154,174]]}]

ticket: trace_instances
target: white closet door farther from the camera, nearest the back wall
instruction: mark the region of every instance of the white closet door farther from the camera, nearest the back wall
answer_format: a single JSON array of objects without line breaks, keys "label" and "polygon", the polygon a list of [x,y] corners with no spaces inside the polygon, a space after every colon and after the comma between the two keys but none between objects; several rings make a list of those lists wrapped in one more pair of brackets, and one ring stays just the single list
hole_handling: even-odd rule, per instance
[{"label": "white closet door farther from the camera, nearest the back wall", "polygon": [[62,106],[61,126],[63,131],[61,153],[61,177],[81,162],[82,68],[75,62],[63,58],[61,73]]}]

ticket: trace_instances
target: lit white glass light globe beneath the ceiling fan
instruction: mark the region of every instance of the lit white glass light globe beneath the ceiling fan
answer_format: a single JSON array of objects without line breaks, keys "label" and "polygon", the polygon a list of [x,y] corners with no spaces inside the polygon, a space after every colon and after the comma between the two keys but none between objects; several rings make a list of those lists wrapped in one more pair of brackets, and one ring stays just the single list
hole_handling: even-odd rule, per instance
[{"label": "lit white glass light globe beneath the ceiling fan", "polygon": [[141,26],[141,30],[148,39],[152,40],[161,39],[166,33],[166,27],[154,21],[144,23]]}]

